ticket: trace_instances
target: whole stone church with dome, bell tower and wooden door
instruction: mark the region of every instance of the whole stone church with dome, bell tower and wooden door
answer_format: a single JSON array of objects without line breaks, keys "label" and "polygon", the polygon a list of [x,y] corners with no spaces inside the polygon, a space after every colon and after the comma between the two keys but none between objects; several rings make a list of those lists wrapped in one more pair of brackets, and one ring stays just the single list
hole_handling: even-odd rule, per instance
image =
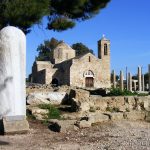
[{"label": "whole stone church with dome, bell tower and wooden door", "polygon": [[53,51],[51,61],[35,61],[32,82],[70,85],[82,88],[110,87],[110,41],[98,41],[98,58],[91,53],[75,56],[75,50],[62,42]]}]

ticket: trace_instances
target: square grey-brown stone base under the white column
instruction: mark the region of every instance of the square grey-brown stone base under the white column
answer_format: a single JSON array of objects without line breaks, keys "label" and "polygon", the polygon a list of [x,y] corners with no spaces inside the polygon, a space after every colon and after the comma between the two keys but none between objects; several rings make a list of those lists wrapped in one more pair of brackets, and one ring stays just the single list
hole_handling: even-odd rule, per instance
[{"label": "square grey-brown stone base under the white column", "polygon": [[7,117],[3,118],[4,134],[14,134],[14,133],[26,133],[29,130],[29,124],[24,116],[23,119],[18,119],[18,117],[13,116],[12,119]]}]

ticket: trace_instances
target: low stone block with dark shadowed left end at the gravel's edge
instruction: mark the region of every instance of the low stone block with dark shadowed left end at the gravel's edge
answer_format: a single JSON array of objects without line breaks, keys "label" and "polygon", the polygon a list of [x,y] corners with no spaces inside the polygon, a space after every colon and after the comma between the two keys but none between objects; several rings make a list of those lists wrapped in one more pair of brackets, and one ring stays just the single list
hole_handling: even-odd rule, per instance
[{"label": "low stone block with dark shadowed left end at the gravel's edge", "polygon": [[54,132],[67,132],[68,130],[74,130],[74,124],[76,120],[57,120],[50,119],[49,120],[49,129]]}]

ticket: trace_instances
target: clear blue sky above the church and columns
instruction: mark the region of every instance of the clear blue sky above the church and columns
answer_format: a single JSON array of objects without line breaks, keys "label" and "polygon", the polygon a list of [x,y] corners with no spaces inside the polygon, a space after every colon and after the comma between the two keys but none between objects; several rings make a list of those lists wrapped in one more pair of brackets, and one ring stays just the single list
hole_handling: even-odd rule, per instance
[{"label": "clear blue sky above the church and columns", "polygon": [[137,66],[147,71],[150,64],[150,1],[111,0],[106,8],[94,18],[77,23],[76,27],[64,32],[45,30],[35,25],[27,35],[27,75],[37,55],[36,49],[44,40],[52,37],[64,40],[69,45],[82,42],[97,55],[97,41],[103,34],[111,41],[111,70],[136,74]]}]

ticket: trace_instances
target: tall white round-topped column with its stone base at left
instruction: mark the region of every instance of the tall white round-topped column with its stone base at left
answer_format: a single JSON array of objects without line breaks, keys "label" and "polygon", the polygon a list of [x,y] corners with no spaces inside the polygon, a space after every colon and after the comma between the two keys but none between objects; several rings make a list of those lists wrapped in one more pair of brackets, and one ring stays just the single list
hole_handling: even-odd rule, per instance
[{"label": "tall white round-topped column with its stone base at left", "polygon": [[0,31],[0,116],[4,133],[24,132],[26,120],[25,93],[26,37],[15,27]]}]

